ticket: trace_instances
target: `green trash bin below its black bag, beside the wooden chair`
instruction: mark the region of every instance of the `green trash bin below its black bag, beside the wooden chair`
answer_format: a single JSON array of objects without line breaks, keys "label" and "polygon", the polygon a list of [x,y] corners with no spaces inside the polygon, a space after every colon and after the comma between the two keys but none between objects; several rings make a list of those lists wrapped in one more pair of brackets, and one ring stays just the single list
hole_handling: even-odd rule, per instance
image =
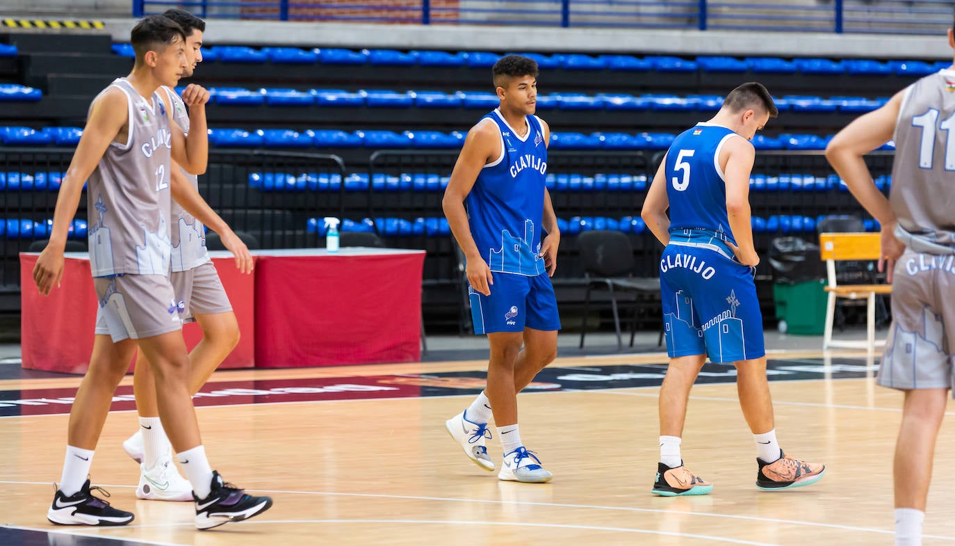
[{"label": "green trash bin below its black bag, beside the wooden chair", "polygon": [[826,281],[775,283],[773,299],[780,332],[821,336],[826,322]]}]

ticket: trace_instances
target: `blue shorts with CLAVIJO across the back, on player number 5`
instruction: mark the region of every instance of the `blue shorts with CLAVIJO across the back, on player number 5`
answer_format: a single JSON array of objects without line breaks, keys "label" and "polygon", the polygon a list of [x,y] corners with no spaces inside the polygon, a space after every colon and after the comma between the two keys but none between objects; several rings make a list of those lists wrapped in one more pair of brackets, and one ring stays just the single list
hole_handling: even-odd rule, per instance
[{"label": "blue shorts with CLAVIJO across the back, on player number 5", "polygon": [[766,355],[749,266],[721,251],[671,243],[660,259],[660,285],[670,358],[732,362]]}]

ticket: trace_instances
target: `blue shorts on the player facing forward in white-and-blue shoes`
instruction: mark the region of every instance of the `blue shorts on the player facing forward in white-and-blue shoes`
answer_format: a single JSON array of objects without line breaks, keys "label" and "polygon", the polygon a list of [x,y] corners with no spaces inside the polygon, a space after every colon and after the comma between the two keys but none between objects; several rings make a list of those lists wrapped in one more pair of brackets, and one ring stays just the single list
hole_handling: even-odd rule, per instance
[{"label": "blue shorts on the player facing forward in white-and-blue shoes", "polygon": [[491,295],[483,295],[468,287],[475,334],[523,332],[524,328],[545,332],[561,329],[557,296],[549,276],[492,274]]}]

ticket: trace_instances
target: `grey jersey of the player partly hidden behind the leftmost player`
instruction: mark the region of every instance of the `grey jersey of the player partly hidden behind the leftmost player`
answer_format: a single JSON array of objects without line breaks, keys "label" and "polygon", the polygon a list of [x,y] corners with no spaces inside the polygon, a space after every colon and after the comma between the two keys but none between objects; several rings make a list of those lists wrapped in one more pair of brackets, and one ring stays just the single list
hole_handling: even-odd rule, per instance
[{"label": "grey jersey of the player partly hidden behind the leftmost player", "polygon": [[[173,120],[180,126],[182,132],[189,134],[189,114],[186,112],[185,103],[175,90],[163,87],[169,94],[169,100],[172,104]],[[190,174],[185,169],[180,169],[193,187],[199,191],[199,177]],[[174,199],[172,202],[172,218],[170,225],[170,238],[173,242],[172,268],[174,272],[187,272],[203,263],[209,261],[209,253],[205,250],[205,229],[202,229],[202,222],[197,220],[180,207]]]}]

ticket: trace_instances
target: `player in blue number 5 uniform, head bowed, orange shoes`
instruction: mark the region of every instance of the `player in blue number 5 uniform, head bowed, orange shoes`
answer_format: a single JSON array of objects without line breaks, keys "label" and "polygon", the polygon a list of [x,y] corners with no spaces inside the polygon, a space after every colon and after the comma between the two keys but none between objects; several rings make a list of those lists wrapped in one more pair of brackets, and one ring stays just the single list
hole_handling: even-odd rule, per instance
[{"label": "player in blue number 5 uniform, head bowed, orange shoes", "polygon": [[[670,145],[647,191],[643,218],[667,248],[660,260],[669,367],[660,388],[660,463],[652,492],[698,495],[711,483],[683,466],[681,436],[690,387],[707,357],[733,362],[739,405],[756,442],[756,487],[815,483],[823,465],[786,456],[776,443],[766,380],[762,317],[750,227],[753,136],[778,114],[761,84],[733,89],[709,121]],[[669,208],[669,217],[667,209]]]}]

